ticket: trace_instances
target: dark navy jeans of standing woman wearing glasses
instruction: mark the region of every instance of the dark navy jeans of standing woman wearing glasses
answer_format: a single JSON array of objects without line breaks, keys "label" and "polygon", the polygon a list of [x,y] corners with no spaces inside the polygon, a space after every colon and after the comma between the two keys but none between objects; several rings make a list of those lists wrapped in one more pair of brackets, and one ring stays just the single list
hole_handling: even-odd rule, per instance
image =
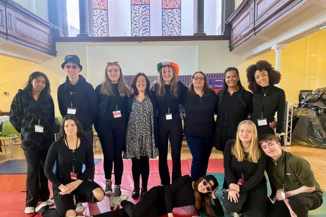
[{"label": "dark navy jeans of standing woman wearing glasses", "polygon": [[206,175],[208,160],[212,150],[212,140],[210,137],[201,138],[197,136],[185,136],[187,145],[192,154],[192,179],[197,181],[200,177]]}]

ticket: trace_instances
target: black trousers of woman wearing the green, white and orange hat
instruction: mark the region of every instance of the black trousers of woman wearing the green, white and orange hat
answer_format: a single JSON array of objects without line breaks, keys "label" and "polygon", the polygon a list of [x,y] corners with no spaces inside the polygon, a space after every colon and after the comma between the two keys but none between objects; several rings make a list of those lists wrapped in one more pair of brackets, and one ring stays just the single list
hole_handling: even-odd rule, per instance
[{"label": "black trousers of woman wearing the green, white and orange hat", "polygon": [[168,168],[168,144],[170,139],[172,157],[172,181],[181,177],[181,145],[182,125],[178,115],[173,115],[172,120],[165,116],[158,117],[158,166],[162,185],[170,184]]}]

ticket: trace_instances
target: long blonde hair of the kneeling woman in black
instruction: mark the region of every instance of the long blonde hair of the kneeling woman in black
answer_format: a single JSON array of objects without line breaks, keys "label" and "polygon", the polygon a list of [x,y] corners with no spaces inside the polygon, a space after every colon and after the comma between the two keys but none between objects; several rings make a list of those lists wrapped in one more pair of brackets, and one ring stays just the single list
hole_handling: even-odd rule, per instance
[{"label": "long blonde hair of the kneeling woman in black", "polygon": [[258,135],[257,135],[256,125],[251,120],[242,120],[239,123],[237,131],[236,131],[235,143],[231,148],[231,153],[233,154],[233,156],[235,156],[235,158],[239,162],[246,160],[246,159],[244,159],[244,151],[242,148],[241,140],[239,139],[240,127],[244,124],[247,124],[251,130],[251,143],[250,143],[249,154],[248,154],[247,160],[252,163],[258,163],[258,160],[261,157],[261,153],[260,153],[260,148],[258,146]]}]

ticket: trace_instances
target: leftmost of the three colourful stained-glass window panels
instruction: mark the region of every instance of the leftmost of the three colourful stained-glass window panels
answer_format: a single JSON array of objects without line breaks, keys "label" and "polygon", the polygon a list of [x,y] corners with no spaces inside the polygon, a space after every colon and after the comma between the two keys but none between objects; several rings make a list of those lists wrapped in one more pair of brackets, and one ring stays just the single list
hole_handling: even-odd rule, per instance
[{"label": "leftmost of the three colourful stained-glass window panels", "polygon": [[93,22],[95,37],[108,36],[107,0],[93,0]]}]

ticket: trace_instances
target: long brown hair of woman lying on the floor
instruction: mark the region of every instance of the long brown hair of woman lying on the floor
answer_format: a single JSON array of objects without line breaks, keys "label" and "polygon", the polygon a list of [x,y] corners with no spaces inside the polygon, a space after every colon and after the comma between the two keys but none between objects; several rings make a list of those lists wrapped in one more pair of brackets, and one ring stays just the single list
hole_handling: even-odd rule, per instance
[{"label": "long brown hair of woman lying on the floor", "polygon": [[212,209],[211,193],[203,194],[198,191],[198,184],[201,182],[203,178],[199,178],[197,181],[194,182],[194,194],[195,194],[195,207],[197,210],[205,210],[209,217],[214,217],[215,213]]}]

